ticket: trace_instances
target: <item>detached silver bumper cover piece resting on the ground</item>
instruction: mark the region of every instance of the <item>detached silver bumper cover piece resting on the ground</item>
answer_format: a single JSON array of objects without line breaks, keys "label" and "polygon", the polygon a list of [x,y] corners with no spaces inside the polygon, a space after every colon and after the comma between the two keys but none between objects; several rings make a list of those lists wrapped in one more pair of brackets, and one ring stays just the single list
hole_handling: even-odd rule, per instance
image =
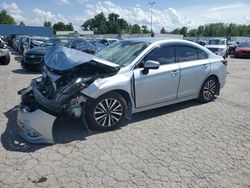
[{"label": "detached silver bumper cover piece resting on the ground", "polygon": [[34,144],[53,144],[53,124],[56,119],[39,109],[29,112],[28,107],[20,107],[17,112],[19,135]]}]

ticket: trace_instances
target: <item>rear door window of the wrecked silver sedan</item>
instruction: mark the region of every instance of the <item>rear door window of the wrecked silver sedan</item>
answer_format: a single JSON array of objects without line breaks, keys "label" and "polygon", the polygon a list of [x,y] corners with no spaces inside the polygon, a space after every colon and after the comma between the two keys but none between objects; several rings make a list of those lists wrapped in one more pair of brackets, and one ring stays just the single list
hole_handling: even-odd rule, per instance
[{"label": "rear door window of the wrecked silver sedan", "polygon": [[177,46],[176,55],[178,62],[198,60],[197,49],[189,46]]}]

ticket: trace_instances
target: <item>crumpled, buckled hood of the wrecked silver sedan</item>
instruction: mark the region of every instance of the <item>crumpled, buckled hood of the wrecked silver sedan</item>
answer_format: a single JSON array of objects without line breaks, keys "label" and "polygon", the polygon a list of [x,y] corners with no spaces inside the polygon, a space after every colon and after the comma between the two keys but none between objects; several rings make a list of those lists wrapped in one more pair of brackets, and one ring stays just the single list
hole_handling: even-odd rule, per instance
[{"label": "crumpled, buckled hood of the wrecked silver sedan", "polygon": [[119,65],[117,64],[66,47],[50,48],[45,56],[46,66],[56,71],[67,71],[82,64],[90,63],[91,61],[106,65],[110,68],[119,69]]}]

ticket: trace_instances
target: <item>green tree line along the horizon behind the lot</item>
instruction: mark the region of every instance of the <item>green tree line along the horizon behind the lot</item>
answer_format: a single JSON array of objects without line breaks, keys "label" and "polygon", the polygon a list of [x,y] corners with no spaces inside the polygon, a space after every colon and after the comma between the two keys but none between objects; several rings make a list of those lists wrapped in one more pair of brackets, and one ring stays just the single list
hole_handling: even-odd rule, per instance
[{"label": "green tree line along the horizon behind the lot", "polygon": [[[14,18],[6,10],[0,12],[0,24],[16,25]],[[19,25],[25,26],[23,22]],[[72,23],[65,24],[58,22],[52,24],[49,21],[44,22],[44,27],[52,27],[56,31],[74,31]],[[111,13],[106,18],[104,13],[99,13],[93,18],[88,19],[81,25],[84,31],[93,31],[94,34],[148,34],[150,33],[146,25],[129,24],[119,14]],[[152,31],[153,32],[153,31]],[[177,28],[167,31],[165,27],[160,30],[162,34],[181,34],[185,37],[213,37],[213,36],[250,36],[250,25],[211,23],[199,26],[196,29],[187,27]]]}]

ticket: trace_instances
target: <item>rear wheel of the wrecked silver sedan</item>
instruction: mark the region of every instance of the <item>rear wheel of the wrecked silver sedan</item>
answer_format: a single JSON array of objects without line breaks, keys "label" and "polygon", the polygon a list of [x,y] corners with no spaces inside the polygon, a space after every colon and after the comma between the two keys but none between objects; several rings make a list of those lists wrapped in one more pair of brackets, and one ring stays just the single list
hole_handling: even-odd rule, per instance
[{"label": "rear wheel of the wrecked silver sedan", "polygon": [[214,77],[207,78],[200,90],[197,101],[200,103],[208,103],[215,99],[215,94],[218,89],[217,79]]}]

